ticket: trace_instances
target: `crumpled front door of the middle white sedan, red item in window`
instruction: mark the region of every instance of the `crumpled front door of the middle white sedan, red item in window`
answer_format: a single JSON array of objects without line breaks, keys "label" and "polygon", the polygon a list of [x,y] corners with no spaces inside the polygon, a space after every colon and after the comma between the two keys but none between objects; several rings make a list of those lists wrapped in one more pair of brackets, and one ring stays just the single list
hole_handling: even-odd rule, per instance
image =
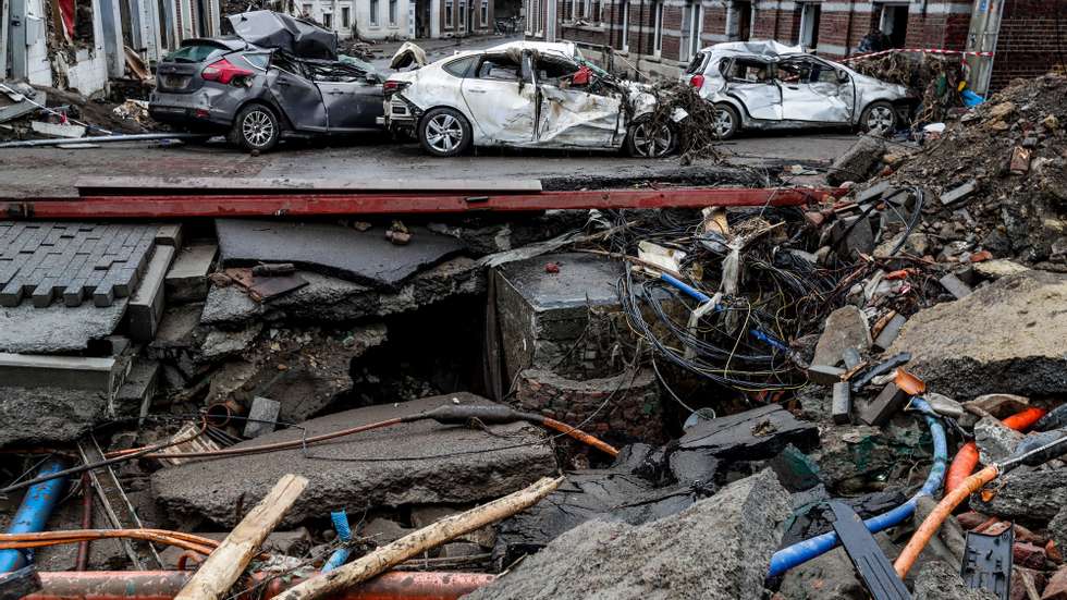
[{"label": "crumpled front door of the middle white sedan, red item in window", "polygon": [[535,74],[540,99],[538,145],[613,148],[622,143],[622,99],[597,85],[592,71],[565,59],[539,57]]}]

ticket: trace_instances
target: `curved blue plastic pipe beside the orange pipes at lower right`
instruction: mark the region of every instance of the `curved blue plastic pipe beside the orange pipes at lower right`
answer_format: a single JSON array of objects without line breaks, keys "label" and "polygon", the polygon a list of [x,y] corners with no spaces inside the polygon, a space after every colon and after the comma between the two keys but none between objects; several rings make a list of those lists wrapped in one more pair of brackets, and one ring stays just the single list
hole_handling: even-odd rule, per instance
[{"label": "curved blue plastic pipe beside the orange pipes at lower right", "polygon": [[[911,399],[911,407],[922,413],[927,419],[927,425],[930,426],[930,437],[933,438],[934,445],[933,466],[930,467],[930,475],[927,476],[927,482],[922,485],[922,489],[912,495],[910,500],[887,513],[873,516],[863,522],[867,525],[867,529],[872,534],[899,525],[909,518],[915,513],[919,499],[924,495],[937,493],[937,490],[941,489],[941,483],[945,479],[945,469],[948,464],[948,442],[945,439],[945,427],[933,416],[934,412],[924,399]],[[783,548],[771,558],[771,571],[768,573],[768,577],[782,575],[797,565],[825,554],[833,550],[838,542],[837,532],[830,531]]]}]

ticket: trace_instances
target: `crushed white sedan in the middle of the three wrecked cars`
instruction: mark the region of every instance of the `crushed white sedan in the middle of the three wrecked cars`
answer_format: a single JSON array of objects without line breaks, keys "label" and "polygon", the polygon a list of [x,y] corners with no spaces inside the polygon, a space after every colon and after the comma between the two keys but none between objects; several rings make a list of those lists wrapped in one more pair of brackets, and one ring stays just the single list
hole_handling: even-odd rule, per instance
[{"label": "crushed white sedan in the middle of the three wrecked cars", "polygon": [[516,41],[459,52],[390,75],[384,94],[381,123],[439,157],[471,146],[511,146],[625,148],[659,158],[677,147],[675,124],[686,117],[654,117],[649,88],[589,63],[571,42]]}]

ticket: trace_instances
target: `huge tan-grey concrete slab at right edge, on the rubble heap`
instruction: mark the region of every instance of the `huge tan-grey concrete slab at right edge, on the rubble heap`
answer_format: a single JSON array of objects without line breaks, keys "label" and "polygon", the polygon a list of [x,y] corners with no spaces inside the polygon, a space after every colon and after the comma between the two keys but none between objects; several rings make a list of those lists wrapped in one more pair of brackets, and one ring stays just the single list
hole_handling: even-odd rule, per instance
[{"label": "huge tan-grey concrete slab at right edge, on the rubble heap", "polygon": [[890,353],[910,352],[908,370],[927,388],[962,400],[1010,390],[1067,389],[1067,274],[1027,271],[916,314]]}]

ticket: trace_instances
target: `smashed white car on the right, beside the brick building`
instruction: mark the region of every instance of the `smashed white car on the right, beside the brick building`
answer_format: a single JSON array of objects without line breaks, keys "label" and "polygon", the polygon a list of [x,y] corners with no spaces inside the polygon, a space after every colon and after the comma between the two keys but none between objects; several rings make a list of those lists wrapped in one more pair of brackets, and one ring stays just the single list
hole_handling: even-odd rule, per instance
[{"label": "smashed white car on the right, beside the brick building", "polygon": [[895,128],[919,100],[902,85],[776,41],[732,41],[704,48],[682,76],[714,103],[716,137],[746,128],[859,126]]}]

